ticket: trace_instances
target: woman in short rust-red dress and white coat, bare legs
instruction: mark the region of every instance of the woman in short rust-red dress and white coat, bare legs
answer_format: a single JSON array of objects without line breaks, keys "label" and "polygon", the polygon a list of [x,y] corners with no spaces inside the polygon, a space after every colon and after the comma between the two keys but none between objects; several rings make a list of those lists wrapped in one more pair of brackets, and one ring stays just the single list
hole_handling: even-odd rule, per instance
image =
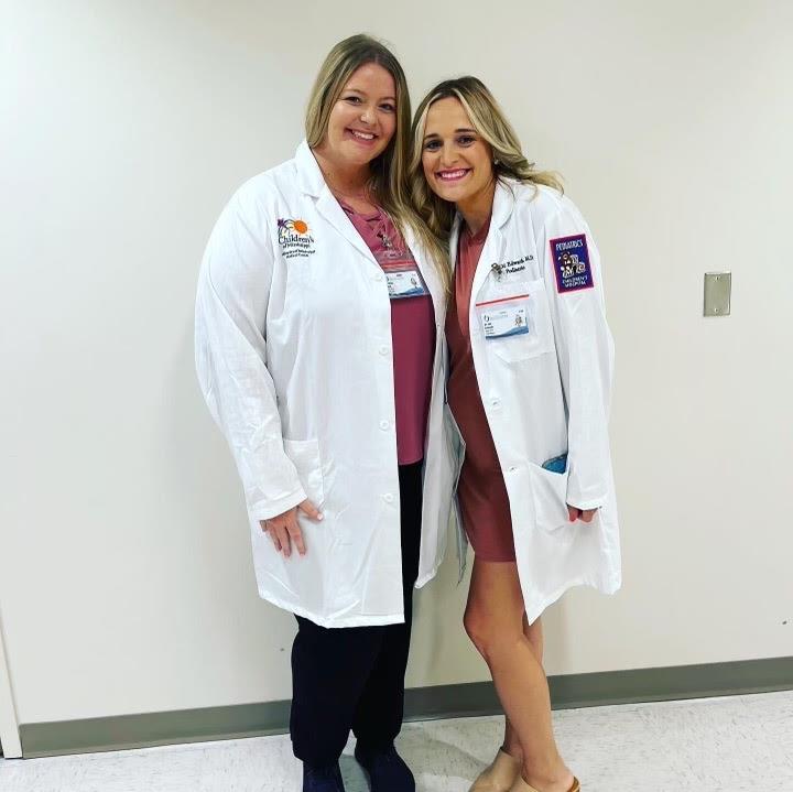
[{"label": "woman in short rust-red dress and white coat, bare legs", "polygon": [[458,528],[475,554],[465,627],[507,716],[471,792],[577,792],[554,740],[540,616],[571,586],[620,585],[599,254],[475,77],[422,101],[411,178],[454,265],[448,420],[464,449]]}]

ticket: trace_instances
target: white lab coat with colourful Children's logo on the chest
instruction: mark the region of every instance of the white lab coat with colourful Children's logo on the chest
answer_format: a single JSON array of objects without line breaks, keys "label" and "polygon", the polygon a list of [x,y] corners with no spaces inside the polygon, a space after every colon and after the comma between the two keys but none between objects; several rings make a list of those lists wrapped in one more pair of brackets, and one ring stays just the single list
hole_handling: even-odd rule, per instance
[{"label": "white lab coat with colourful Children's logo on the chest", "polygon": [[[435,306],[416,587],[443,558],[452,459],[443,419],[443,285],[406,232]],[[391,304],[382,270],[305,142],[247,182],[207,246],[196,368],[242,479],[263,599],[323,627],[404,621]],[[259,525],[308,498],[307,553]]]}]

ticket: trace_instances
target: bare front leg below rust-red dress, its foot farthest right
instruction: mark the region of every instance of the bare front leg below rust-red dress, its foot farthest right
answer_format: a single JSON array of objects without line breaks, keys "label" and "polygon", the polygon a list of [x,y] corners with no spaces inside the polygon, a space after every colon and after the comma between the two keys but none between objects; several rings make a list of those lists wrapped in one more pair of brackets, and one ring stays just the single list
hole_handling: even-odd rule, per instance
[{"label": "bare front leg below rust-red dress, its foot farthest right", "polygon": [[518,734],[523,779],[542,792],[567,792],[573,773],[556,749],[547,680],[524,634],[523,617],[517,564],[475,558],[465,627]]}]

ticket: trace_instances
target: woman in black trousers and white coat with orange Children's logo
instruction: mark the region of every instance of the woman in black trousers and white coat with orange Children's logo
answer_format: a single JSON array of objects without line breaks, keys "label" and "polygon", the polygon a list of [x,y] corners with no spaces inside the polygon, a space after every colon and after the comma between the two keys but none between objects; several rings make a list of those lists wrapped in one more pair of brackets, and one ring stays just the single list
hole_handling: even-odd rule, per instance
[{"label": "woman in black trousers and white coat with orange Children's logo", "polygon": [[412,592],[441,562],[452,469],[446,273],[411,224],[410,116],[383,44],[337,44],[306,139],[231,198],[198,285],[198,378],[242,479],[259,594],[297,618],[304,792],[343,792],[350,729],[373,792],[415,789],[394,738]]}]

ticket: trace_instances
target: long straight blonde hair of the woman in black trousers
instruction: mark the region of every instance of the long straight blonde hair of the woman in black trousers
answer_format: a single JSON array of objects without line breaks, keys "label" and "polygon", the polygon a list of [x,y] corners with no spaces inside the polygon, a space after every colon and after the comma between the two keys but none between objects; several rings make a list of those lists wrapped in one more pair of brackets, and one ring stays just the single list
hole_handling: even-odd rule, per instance
[{"label": "long straight blonde hair of the woman in black trousers", "polygon": [[411,101],[408,80],[395,55],[382,42],[360,33],[340,41],[330,50],[308,97],[305,116],[306,142],[311,149],[323,142],[327,134],[330,112],[345,85],[357,69],[369,63],[382,66],[393,77],[397,86],[397,129],[385,151],[369,165],[369,189],[401,234],[404,234],[408,225],[414,229],[428,249],[433,263],[447,286],[446,253],[410,203],[408,162],[411,150]]}]

